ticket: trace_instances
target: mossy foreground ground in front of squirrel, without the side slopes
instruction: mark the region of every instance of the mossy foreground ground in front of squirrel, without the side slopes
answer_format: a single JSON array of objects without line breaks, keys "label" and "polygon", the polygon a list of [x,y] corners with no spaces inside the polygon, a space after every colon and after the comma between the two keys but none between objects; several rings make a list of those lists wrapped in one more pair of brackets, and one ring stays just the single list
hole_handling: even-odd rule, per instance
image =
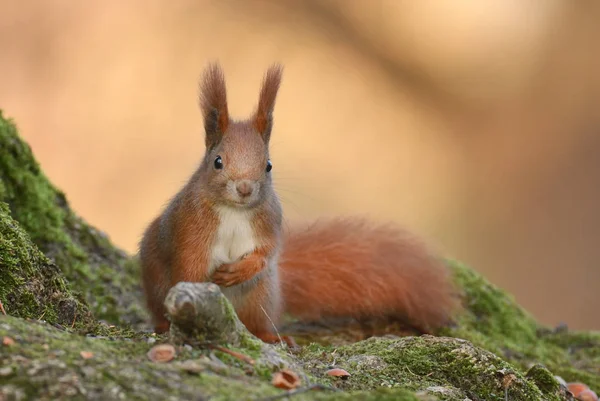
[{"label": "mossy foreground ground in front of squirrel, without the side slopes", "polygon": [[[189,346],[178,346],[168,363],[152,362],[147,354],[153,336],[84,337],[11,316],[0,318],[0,337],[0,394],[6,398],[266,400],[283,392],[271,386],[271,375],[293,366],[302,384],[324,389],[298,394],[298,400],[567,399],[544,368],[536,367],[543,374],[524,375],[491,352],[449,337],[371,338],[338,348],[314,344],[296,357],[283,355],[289,364],[255,365]],[[261,358],[256,349],[235,351]],[[327,376],[330,364],[351,372],[350,378]],[[544,377],[544,385],[536,377]]]}]

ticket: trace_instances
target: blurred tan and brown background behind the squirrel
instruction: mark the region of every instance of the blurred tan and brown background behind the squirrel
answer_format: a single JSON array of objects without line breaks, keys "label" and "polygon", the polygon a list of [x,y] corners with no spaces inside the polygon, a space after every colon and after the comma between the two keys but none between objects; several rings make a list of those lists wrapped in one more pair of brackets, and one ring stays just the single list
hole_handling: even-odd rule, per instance
[{"label": "blurred tan and brown background behind the squirrel", "polygon": [[203,153],[206,63],[243,117],[280,61],[289,220],[401,222],[544,323],[600,329],[598,21],[594,0],[4,2],[0,108],[135,252]]}]

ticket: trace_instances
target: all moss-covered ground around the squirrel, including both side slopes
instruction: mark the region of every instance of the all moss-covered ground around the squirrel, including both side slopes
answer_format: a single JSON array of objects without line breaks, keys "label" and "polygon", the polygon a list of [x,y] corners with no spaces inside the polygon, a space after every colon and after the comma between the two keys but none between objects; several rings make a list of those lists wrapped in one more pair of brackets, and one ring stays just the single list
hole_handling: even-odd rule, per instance
[{"label": "all moss-covered ground around the squirrel, including both side slopes", "polygon": [[[282,393],[270,378],[283,366],[303,385],[343,390],[295,400],[567,399],[555,374],[600,389],[600,333],[540,326],[473,270],[449,265],[465,311],[440,337],[355,342],[313,333],[298,354],[269,346],[275,358],[249,337],[235,350],[256,359],[254,366],[190,347],[179,347],[170,363],[151,362],[151,343],[167,338],[139,330],[146,315],[136,259],[73,213],[0,113],[0,300],[11,315],[0,317],[0,337],[15,340],[0,345],[4,399],[268,399]],[[350,378],[327,376],[333,365]]]}]

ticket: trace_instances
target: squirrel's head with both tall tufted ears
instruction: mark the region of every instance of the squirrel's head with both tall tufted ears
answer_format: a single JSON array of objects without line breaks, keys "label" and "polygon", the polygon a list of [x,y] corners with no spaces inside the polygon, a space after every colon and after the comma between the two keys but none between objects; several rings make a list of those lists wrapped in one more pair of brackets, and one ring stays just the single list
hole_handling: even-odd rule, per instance
[{"label": "squirrel's head with both tall tufted ears", "polygon": [[252,207],[273,191],[269,140],[273,108],[282,67],[270,67],[263,79],[258,107],[251,118],[234,121],[227,109],[227,91],[221,67],[210,64],[200,88],[206,152],[202,164],[203,188],[215,204]]}]

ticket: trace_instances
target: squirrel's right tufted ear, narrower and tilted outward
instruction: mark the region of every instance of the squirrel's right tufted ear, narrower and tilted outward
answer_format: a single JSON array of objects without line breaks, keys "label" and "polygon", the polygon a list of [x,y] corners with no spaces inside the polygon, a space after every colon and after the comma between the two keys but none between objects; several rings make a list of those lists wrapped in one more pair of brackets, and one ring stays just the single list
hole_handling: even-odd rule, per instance
[{"label": "squirrel's right tufted ear, narrower and tilted outward", "polygon": [[260,97],[258,98],[258,108],[252,122],[254,128],[267,143],[271,137],[273,108],[275,107],[275,99],[279,90],[279,84],[281,83],[282,72],[283,67],[280,64],[274,64],[267,70],[260,90]]}]

